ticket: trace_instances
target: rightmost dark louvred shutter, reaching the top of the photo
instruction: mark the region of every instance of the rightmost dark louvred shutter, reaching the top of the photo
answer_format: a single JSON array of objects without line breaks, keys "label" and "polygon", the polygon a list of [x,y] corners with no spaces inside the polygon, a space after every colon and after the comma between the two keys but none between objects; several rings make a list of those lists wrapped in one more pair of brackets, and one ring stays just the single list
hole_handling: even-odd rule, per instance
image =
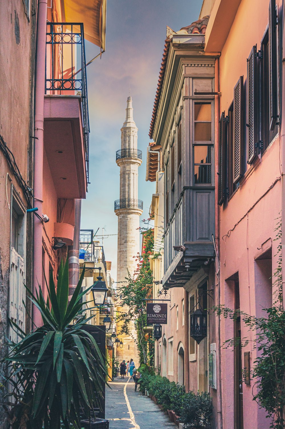
[{"label": "rightmost dark louvred shutter, reaching the top of the photo", "polygon": [[276,4],[270,1],[269,6],[269,80],[270,80],[270,131],[274,130],[277,121],[277,52],[276,52]]}]

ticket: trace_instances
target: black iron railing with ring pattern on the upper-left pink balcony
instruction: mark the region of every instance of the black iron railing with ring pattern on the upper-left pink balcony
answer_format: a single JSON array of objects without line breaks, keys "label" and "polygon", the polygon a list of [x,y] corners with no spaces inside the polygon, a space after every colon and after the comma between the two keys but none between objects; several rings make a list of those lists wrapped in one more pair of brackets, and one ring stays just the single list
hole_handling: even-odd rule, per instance
[{"label": "black iron railing with ring pattern on the upper-left pink balcony", "polygon": [[82,23],[49,22],[45,44],[45,94],[80,95],[89,183],[89,115],[84,29]]}]

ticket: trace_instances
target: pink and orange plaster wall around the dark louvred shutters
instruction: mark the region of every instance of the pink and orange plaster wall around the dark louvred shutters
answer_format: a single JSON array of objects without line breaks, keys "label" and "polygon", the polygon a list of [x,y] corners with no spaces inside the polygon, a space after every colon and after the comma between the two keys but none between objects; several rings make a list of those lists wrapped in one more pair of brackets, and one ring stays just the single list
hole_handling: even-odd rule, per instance
[{"label": "pink and orange plaster wall around the dark louvred shutters", "polygon": [[[278,7],[281,2],[276,1]],[[247,57],[252,46],[261,40],[268,26],[268,0],[243,0],[237,10],[228,38],[220,57],[220,112],[228,111],[233,100],[234,85],[244,76],[246,88]],[[254,19],[252,17],[254,16]],[[246,95],[246,90],[244,92]],[[244,103],[246,106],[246,103]],[[226,113],[227,114],[227,113]],[[246,113],[245,113],[246,118]],[[246,122],[246,121],[245,121]],[[246,128],[246,127],[245,127]],[[244,133],[246,142],[246,130]],[[251,315],[260,315],[262,305],[269,305],[268,281],[261,276],[256,258],[272,247],[272,273],[276,269],[276,218],[281,210],[281,182],[279,135],[252,166],[244,162],[246,174],[240,180],[240,187],[230,201],[220,210],[220,264],[221,302],[234,306],[234,282],[231,276],[239,275],[240,308]],[[246,147],[246,144],[244,145]],[[246,157],[246,152],[244,154]],[[232,231],[231,231],[232,230]],[[263,269],[264,270],[264,269]],[[267,270],[267,271],[266,271]],[[269,266],[265,271],[270,277]],[[266,274],[265,274],[266,275]],[[272,302],[272,301],[271,301]],[[247,332],[242,324],[242,337],[254,340],[255,333]],[[234,326],[231,320],[221,322],[222,342],[233,338]],[[242,351],[251,352],[251,365],[255,360],[252,342]],[[234,353],[232,349],[222,350],[222,408],[224,427],[234,426]],[[244,427],[266,429],[269,419],[264,410],[252,402],[252,384],[243,383]]]}]

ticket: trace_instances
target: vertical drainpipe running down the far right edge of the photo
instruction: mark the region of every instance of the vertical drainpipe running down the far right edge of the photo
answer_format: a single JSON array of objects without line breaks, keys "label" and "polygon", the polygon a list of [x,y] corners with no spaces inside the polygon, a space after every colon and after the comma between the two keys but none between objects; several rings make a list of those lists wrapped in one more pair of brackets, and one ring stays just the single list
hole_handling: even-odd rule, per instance
[{"label": "vertical drainpipe running down the far right edge of the photo", "polygon": [[[281,257],[282,257],[282,297],[283,297],[283,308],[285,309],[285,109],[283,109],[283,101],[285,100],[285,1],[282,2],[282,96],[281,96],[281,106],[280,106],[280,120],[281,120],[281,228],[282,228],[282,236],[281,236]],[[284,227],[284,229],[283,229]],[[283,263],[284,262],[284,263]]]}]

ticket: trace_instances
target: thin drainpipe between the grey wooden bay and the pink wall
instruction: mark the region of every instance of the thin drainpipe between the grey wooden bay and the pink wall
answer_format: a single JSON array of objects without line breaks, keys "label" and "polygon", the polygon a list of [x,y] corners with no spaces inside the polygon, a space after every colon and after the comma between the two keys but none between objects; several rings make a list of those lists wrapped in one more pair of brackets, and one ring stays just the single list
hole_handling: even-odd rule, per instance
[{"label": "thin drainpipe between the grey wooden bay and the pink wall", "polygon": [[[219,58],[216,58],[215,61],[215,92],[220,92],[219,84]],[[215,142],[219,141],[219,95],[215,96]],[[215,145],[215,160],[219,159],[219,145]],[[215,169],[216,172],[216,169]],[[216,206],[216,216],[215,216],[215,244],[216,247],[219,245],[219,206],[216,204],[218,198],[218,175],[215,174],[215,206]],[[215,248],[216,248],[215,247]],[[218,256],[216,255],[216,258]],[[218,261],[219,264],[219,261]],[[216,270],[216,266],[214,267]],[[220,273],[217,274],[217,285],[215,289],[216,305],[220,305],[220,296],[221,296],[221,284],[220,284]],[[216,378],[217,378],[217,429],[222,429],[222,371],[221,371],[221,318],[220,316],[216,317],[215,323],[215,336],[216,336]]]}]

